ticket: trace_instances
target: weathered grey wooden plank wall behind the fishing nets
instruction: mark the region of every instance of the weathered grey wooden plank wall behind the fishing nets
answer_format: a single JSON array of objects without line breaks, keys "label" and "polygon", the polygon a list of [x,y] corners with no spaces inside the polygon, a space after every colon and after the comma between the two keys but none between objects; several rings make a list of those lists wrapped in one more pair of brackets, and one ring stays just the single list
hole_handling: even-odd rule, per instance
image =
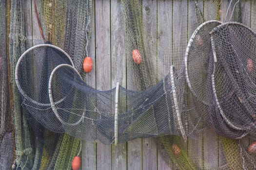
[{"label": "weathered grey wooden plank wall behind the fishing nets", "polygon": [[[249,10],[251,14],[256,13],[255,0],[241,1],[242,12]],[[226,14],[229,2],[230,0],[222,0],[221,10],[218,11],[221,18]],[[31,3],[32,0],[25,0],[28,47],[43,43]],[[199,4],[203,6],[204,13],[207,11],[216,12],[214,11],[216,6],[214,6],[213,0],[204,2],[199,0]],[[168,48],[168,44],[165,43],[166,40],[178,40],[176,35],[182,29],[186,31],[190,27],[189,11],[191,5],[191,0],[142,1],[144,28],[149,35],[147,42],[151,50],[151,61],[161,60],[159,54]],[[182,25],[179,20],[180,17],[184,16],[187,17],[187,23],[182,23]],[[250,19],[250,16],[242,19],[253,30],[256,30],[254,20]],[[120,0],[93,1],[90,56],[93,58],[94,68],[88,75],[87,82],[89,85],[100,90],[108,90],[115,87],[117,80],[119,80],[120,85],[129,88],[129,82],[132,81],[129,74],[132,73],[126,71],[124,31]],[[189,34],[192,33],[188,33],[188,38]],[[156,75],[161,74],[162,76],[167,74],[169,69],[169,65],[156,65],[154,67],[157,68]],[[220,146],[219,140],[218,137],[215,137],[216,135],[212,135],[213,133],[209,130],[204,132],[197,141],[188,140],[186,147],[204,162],[217,168],[221,164],[223,153],[218,152],[216,146]],[[117,146],[83,141],[81,155],[82,170],[177,170],[176,165],[169,167],[164,162],[152,138],[135,139]]]}]

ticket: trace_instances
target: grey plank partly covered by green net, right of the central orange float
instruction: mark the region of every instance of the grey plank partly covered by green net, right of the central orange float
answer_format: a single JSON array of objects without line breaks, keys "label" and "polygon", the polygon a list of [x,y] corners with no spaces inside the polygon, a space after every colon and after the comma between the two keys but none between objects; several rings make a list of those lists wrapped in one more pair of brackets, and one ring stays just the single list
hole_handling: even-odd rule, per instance
[{"label": "grey plank partly covered by green net, right of the central orange float", "polygon": [[[142,1],[144,45],[148,50],[149,66],[153,84],[157,75],[157,0]],[[142,139],[142,169],[157,169],[157,146],[153,138]]]}]

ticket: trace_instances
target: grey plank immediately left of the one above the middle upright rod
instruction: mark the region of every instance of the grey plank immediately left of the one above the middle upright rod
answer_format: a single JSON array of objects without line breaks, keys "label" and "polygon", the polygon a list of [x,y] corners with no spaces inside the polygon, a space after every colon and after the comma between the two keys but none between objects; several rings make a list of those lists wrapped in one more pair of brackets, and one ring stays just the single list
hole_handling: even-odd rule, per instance
[{"label": "grey plank immediately left of the one above the middle upright rod", "polygon": [[[111,88],[110,1],[95,1],[96,87]],[[111,104],[111,103],[109,103]],[[111,145],[97,142],[97,170],[111,170]]]}]

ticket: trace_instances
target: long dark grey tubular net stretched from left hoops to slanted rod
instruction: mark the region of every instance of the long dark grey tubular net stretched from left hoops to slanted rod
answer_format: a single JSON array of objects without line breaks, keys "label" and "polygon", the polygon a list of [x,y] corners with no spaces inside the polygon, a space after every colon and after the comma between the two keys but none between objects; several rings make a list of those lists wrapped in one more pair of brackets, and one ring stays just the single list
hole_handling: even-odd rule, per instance
[{"label": "long dark grey tubular net stretched from left hoops to slanted rod", "polygon": [[[172,86],[177,76],[172,76],[172,71],[145,91],[120,86],[115,127],[116,88],[98,91],[90,87],[66,55],[53,46],[39,45],[23,53],[17,64],[16,82],[23,96],[22,106],[47,129],[80,139],[99,139],[106,144],[113,142],[115,128],[118,142],[185,133],[179,122],[181,116],[176,114],[178,106],[174,107],[176,88]],[[62,63],[66,65],[59,65]]]}]

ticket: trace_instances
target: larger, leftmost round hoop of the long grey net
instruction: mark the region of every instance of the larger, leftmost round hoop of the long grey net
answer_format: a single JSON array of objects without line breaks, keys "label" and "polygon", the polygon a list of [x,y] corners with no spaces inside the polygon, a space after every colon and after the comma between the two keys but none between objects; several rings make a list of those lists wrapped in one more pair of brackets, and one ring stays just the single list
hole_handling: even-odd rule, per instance
[{"label": "larger, leftmost round hoop of the long grey net", "polygon": [[[19,78],[18,78],[18,70],[19,70],[19,68],[20,68],[20,63],[21,63],[21,61],[26,57],[26,54],[27,54],[27,53],[29,53],[30,51],[33,51],[33,50],[35,50],[35,49],[37,49],[37,48],[40,48],[40,47],[50,47],[50,48],[53,48],[53,49],[56,49],[56,50],[62,52],[62,53],[69,59],[69,61],[70,61],[70,63],[71,63],[70,66],[75,67],[75,66],[74,66],[74,63],[73,63],[73,61],[72,61],[72,59],[71,59],[71,57],[70,57],[70,56],[68,55],[68,53],[65,52],[64,50],[62,50],[62,49],[60,49],[59,47],[54,46],[54,45],[52,45],[52,44],[39,44],[39,45],[36,45],[36,46],[33,46],[33,47],[29,48],[28,50],[26,50],[25,52],[23,52],[23,53],[21,54],[21,56],[20,56],[20,58],[19,58],[19,60],[18,60],[18,62],[17,62],[17,64],[16,64],[16,68],[15,68],[15,82],[16,82],[16,85],[17,85],[17,87],[18,87],[18,89],[19,89],[21,95],[22,95],[25,99],[27,99],[28,101],[30,101],[30,102],[32,102],[32,103],[34,103],[34,104],[37,104],[37,105],[39,105],[39,106],[51,106],[51,103],[41,103],[41,102],[37,102],[37,101],[33,100],[32,98],[30,98],[27,94],[25,94],[25,92],[23,91],[23,89],[22,89],[21,86],[20,86],[20,82],[19,82]],[[63,99],[61,99],[61,100],[58,101],[58,102],[62,102],[62,101],[63,101]]]}]

